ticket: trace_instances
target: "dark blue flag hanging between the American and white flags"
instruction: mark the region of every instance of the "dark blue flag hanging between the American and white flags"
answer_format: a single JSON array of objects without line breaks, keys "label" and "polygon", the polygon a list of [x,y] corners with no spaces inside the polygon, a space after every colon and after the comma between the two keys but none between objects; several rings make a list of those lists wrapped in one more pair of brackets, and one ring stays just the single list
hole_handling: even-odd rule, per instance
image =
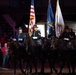
[{"label": "dark blue flag hanging between the American and white flags", "polygon": [[49,0],[48,9],[47,9],[47,34],[51,33],[53,22],[54,22],[54,14]]}]

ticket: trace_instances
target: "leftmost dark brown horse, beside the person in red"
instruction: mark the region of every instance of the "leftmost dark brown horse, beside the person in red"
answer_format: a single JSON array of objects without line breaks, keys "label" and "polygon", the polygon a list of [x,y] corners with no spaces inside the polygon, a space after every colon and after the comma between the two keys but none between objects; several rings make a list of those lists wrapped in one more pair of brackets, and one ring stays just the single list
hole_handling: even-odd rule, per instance
[{"label": "leftmost dark brown horse, beside the person in red", "polygon": [[11,49],[11,59],[14,62],[14,75],[16,75],[16,66],[19,62],[19,68],[22,73],[25,73],[25,70],[23,69],[23,62],[26,57],[26,48],[20,47],[16,41],[11,40],[10,41],[10,49]]}]

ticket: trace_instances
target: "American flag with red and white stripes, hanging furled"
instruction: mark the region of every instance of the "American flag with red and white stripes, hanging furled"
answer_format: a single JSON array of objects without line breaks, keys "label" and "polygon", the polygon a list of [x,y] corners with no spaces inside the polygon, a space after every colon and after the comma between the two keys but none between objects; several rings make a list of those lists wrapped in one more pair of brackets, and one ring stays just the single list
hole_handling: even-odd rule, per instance
[{"label": "American flag with red and white stripes, hanging furled", "polygon": [[36,24],[35,20],[35,10],[34,10],[34,0],[31,0],[30,7],[30,21],[29,21],[29,34],[31,35],[33,32],[33,26]]}]

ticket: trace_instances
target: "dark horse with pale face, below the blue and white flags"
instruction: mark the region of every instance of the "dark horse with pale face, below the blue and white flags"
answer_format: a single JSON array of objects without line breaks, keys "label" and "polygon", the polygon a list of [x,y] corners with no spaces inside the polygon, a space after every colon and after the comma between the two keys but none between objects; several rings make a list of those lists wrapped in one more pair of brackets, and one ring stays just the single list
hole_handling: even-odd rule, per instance
[{"label": "dark horse with pale face, below the blue and white flags", "polygon": [[53,73],[52,70],[55,71],[55,73],[58,73],[57,69],[55,68],[55,64],[58,58],[58,50],[56,47],[56,43],[57,43],[57,38],[56,37],[51,37],[50,39],[50,43],[48,44],[48,48],[47,48],[47,59],[49,62],[49,66],[50,66],[50,73]]}]

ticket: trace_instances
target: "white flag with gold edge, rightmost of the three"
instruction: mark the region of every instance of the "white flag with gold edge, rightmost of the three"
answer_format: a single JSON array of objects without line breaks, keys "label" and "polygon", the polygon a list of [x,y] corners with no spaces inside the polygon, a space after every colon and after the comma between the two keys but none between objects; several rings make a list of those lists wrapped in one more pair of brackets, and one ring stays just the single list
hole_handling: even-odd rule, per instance
[{"label": "white flag with gold edge, rightmost of the three", "polygon": [[57,0],[57,6],[56,6],[56,14],[55,14],[55,33],[56,37],[59,37],[62,32],[64,31],[64,20],[62,16],[62,12],[59,6],[59,0]]}]

